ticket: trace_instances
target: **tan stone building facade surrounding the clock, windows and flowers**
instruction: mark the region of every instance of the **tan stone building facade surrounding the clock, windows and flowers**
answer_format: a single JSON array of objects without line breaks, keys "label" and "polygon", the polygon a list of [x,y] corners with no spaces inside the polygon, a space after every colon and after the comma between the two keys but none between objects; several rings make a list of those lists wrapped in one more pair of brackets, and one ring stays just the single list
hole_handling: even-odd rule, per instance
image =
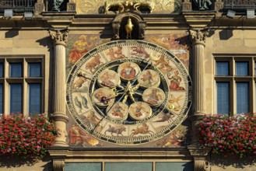
[{"label": "tan stone building facade surrounding the clock, windows and flowers", "polygon": [[[111,8],[120,7],[119,4],[108,2],[110,7],[113,5]],[[54,146],[49,149],[51,156],[47,156],[49,158],[46,161],[30,167],[18,167],[16,159],[12,161],[14,164],[0,159],[0,170],[64,170],[65,167],[74,168],[73,164],[77,162],[100,163],[102,170],[106,171],[107,165],[111,162],[149,162],[156,171],[162,162],[188,164],[188,170],[256,169],[254,159],[233,161],[230,158],[222,158],[226,162],[221,162],[218,156],[212,155],[209,148],[198,146],[197,134],[198,121],[202,120],[203,115],[217,113],[216,59],[246,59],[250,61],[251,71],[254,71],[252,68],[256,67],[256,19],[246,19],[246,16],[228,18],[222,10],[222,1],[216,1],[212,5],[216,11],[192,11],[193,5],[187,0],[170,1],[169,4],[167,1],[160,1],[159,4],[155,4],[156,2],[158,1],[140,4],[142,9],[150,7],[151,9],[146,9],[146,12],[152,11],[150,14],[136,11],[135,8],[123,9],[124,11],[120,12],[111,9],[108,14],[104,14],[102,10],[106,9],[107,3],[101,1],[69,1],[67,12],[47,11],[44,1],[37,1],[32,19],[24,19],[21,15],[13,16],[11,19],[0,19],[0,60],[39,59],[42,62],[44,79],[41,112],[53,113],[52,118],[60,130]],[[91,9],[82,8],[81,4],[90,6]],[[171,8],[167,9],[167,6]],[[95,13],[92,14],[92,11]],[[139,145],[117,145],[90,135],[89,131],[78,126],[79,123],[75,121],[75,115],[72,114],[74,111],[68,106],[67,99],[70,92],[67,91],[66,82],[69,82],[68,78],[72,78],[70,73],[74,68],[79,67],[79,60],[111,41],[126,40],[124,20],[126,19],[126,22],[128,17],[132,18],[134,25],[132,40],[156,44],[159,49],[164,48],[174,54],[184,71],[188,71],[188,77],[191,77],[192,82],[191,94],[188,96],[188,99],[192,100],[192,105],[188,113],[185,113],[184,120],[170,133],[160,135],[156,141]],[[115,48],[117,47],[114,47],[117,51]],[[146,57],[147,54],[143,53],[142,56]],[[165,66],[164,63],[160,65]],[[253,73],[250,81],[255,82],[255,71]],[[2,82],[5,82],[5,89],[9,89],[8,79],[6,80],[2,79]],[[235,81],[234,77],[230,80]],[[251,85],[251,94],[255,94],[255,84]],[[24,88],[23,93],[27,94],[26,91]],[[7,94],[8,92],[5,92],[3,113],[9,113]],[[22,112],[28,113],[26,96],[23,99]],[[256,97],[251,96],[251,112],[256,110],[255,101]],[[235,113],[235,104],[230,104],[230,108],[231,112]],[[169,124],[169,121],[165,121],[165,124]],[[150,125],[153,127],[152,123]],[[73,129],[76,126],[79,130]],[[79,138],[83,139],[72,137],[72,131],[79,131]],[[114,135],[116,138],[120,134]],[[184,168],[186,169],[185,166]]]}]

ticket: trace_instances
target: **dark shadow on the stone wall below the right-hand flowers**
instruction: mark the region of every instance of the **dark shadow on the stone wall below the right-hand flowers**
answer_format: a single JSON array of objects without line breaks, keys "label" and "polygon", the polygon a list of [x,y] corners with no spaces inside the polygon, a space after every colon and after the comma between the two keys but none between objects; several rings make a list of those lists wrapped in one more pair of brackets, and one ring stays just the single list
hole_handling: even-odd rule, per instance
[{"label": "dark shadow on the stone wall below the right-hand flowers", "polygon": [[239,158],[237,156],[223,157],[223,155],[211,154],[210,163],[211,166],[218,166],[223,169],[225,169],[228,166],[232,166],[233,168],[237,169],[244,169],[247,166],[256,167],[256,156],[249,155],[244,158]]}]

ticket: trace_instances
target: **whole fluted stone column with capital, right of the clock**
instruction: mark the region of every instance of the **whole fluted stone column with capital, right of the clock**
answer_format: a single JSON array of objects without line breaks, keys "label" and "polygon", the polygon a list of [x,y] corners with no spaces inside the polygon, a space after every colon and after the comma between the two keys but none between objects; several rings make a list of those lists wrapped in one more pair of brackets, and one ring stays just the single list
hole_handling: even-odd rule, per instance
[{"label": "whole fluted stone column with capital, right of the clock", "polygon": [[190,38],[193,50],[193,101],[194,114],[189,118],[192,128],[192,144],[198,143],[198,122],[202,120],[205,113],[205,40],[209,30],[190,30]]}]

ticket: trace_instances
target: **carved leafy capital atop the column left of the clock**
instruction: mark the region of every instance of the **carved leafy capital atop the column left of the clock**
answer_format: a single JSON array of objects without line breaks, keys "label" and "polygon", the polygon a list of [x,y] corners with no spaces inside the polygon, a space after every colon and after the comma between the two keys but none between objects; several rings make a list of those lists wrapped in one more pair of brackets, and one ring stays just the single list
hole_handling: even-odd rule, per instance
[{"label": "carved leafy capital atop the column left of the clock", "polygon": [[68,29],[49,30],[51,40],[54,40],[54,46],[57,44],[64,45],[68,42]]}]

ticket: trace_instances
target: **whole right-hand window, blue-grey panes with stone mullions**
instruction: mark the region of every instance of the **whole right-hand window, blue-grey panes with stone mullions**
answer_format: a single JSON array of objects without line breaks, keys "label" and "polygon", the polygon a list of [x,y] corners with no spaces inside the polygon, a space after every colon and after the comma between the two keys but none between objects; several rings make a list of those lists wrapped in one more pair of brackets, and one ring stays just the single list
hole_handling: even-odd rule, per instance
[{"label": "whole right-hand window, blue-grey panes with stone mullions", "polygon": [[255,57],[216,57],[216,112],[253,113],[256,108]]}]

